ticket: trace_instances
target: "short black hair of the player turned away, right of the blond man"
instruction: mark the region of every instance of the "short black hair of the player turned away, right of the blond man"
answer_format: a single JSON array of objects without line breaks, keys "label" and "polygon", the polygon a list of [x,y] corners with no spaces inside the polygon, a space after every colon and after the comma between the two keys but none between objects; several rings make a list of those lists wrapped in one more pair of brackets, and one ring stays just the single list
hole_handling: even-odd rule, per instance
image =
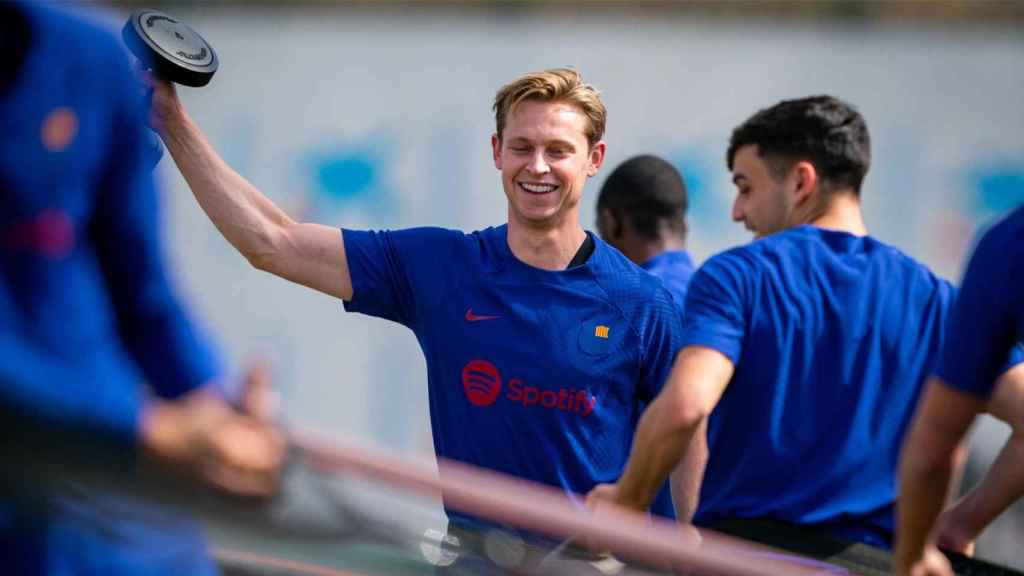
[{"label": "short black hair of the player turned away, right of the blond man", "polygon": [[867,124],[852,106],[833,96],[782,100],[766,108],[732,131],[726,164],[732,170],[736,151],[757,145],[758,155],[776,177],[800,161],[814,165],[827,192],[860,184],[871,165]]}]

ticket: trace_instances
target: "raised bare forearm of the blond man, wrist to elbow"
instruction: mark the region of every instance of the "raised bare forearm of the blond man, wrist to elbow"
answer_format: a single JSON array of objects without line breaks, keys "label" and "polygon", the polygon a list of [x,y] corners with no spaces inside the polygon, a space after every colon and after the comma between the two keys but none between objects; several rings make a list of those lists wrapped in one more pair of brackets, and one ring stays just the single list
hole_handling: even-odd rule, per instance
[{"label": "raised bare forearm of the blond man, wrist to elbow", "polygon": [[167,119],[161,137],[196,200],[217,230],[257,268],[294,221],[217,155],[184,111]]}]

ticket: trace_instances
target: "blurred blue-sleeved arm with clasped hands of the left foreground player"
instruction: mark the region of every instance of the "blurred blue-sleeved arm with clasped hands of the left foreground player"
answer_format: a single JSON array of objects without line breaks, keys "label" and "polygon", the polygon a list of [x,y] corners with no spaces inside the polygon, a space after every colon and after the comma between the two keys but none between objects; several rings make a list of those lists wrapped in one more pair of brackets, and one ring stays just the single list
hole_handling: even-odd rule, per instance
[{"label": "blurred blue-sleeved arm with clasped hands of the left foreground player", "polygon": [[95,247],[121,343],[159,398],[137,416],[143,455],[239,494],[267,494],[275,486],[283,447],[268,418],[248,398],[269,386],[251,372],[236,412],[213,389],[220,367],[211,346],[171,289],[163,259],[159,207],[145,161],[143,111],[125,70],[116,95],[111,149],[96,187],[89,240]]}]

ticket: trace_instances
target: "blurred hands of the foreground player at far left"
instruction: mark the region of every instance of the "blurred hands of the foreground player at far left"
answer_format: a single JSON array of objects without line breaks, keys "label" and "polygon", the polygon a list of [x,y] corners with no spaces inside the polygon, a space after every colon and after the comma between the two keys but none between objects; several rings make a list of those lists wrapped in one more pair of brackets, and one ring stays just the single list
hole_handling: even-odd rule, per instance
[{"label": "blurred hands of the foreground player at far left", "polygon": [[286,448],[271,417],[266,369],[256,366],[246,375],[241,411],[208,389],[156,401],[143,418],[142,444],[157,461],[224,492],[268,497],[278,490]]}]

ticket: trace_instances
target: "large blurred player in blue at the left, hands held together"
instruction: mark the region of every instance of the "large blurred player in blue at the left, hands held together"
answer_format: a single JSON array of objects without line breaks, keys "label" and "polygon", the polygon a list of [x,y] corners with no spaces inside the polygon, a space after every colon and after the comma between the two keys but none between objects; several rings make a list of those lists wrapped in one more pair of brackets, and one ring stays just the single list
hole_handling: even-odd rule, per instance
[{"label": "large blurred player in blue at the left, hands held together", "polygon": [[[48,7],[0,4],[0,565],[215,573],[186,516],[105,489],[146,469],[264,496],[283,452],[215,392],[168,286],[138,84],[113,37]],[[90,464],[100,486],[77,481]]]}]

